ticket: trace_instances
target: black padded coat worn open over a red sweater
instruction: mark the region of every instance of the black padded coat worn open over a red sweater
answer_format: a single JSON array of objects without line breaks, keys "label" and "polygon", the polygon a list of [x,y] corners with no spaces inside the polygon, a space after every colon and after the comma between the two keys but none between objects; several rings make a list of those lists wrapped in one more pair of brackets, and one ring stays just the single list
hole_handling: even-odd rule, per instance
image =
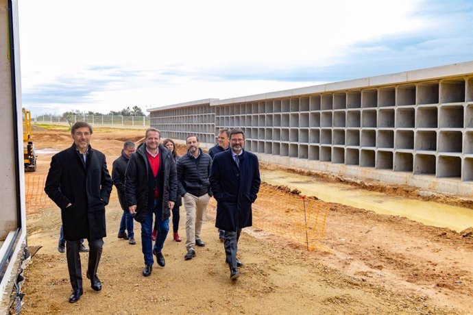
[{"label": "black padded coat worn open over a red sweater", "polygon": [[[160,168],[163,167],[164,177],[162,185],[161,220],[171,216],[169,201],[176,201],[178,193],[178,175],[175,171],[175,162],[171,152],[165,146],[159,146]],[[142,223],[146,218],[148,207],[149,183],[148,174],[151,166],[146,156],[146,144],[143,142],[130,157],[125,171],[125,197],[128,205],[136,205],[134,219]]]}]

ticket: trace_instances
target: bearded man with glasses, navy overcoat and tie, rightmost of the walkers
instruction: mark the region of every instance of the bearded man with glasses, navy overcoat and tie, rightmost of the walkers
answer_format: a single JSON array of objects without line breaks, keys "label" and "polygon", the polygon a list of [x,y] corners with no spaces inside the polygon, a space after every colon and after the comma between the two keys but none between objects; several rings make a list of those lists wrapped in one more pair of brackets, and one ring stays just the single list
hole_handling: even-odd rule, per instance
[{"label": "bearded man with glasses, navy overcoat and tie, rightmost of the walkers", "polygon": [[225,231],[223,246],[230,279],[240,277],[237,259],[238,240],[243,227],[252,226],[252,203],[260,188],[258,157],[245,151],[245,133],[242,129],[230,130],[230,150],[213,158],[210,169],[210,187],[217,200],[215,227]]}]

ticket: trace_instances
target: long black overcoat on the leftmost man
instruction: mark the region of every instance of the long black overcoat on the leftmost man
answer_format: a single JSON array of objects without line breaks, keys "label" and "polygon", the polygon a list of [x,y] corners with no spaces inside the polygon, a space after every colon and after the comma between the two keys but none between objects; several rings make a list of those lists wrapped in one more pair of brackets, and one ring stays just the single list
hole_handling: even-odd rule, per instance
[{"label": "long black overcoat on the leftmost man", "polygon": [[53,155],[45,192],[60,207],[66,240],[97,240],[106,236],[105,206],[113,184],[103,153],[89,146],[86,164],[81,159],[75,144]]}]

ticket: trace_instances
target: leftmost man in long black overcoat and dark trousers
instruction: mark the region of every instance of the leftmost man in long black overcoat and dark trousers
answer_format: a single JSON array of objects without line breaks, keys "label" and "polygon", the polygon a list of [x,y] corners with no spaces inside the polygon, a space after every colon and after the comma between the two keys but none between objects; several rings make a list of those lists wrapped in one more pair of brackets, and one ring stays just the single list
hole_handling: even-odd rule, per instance
[{"label": "leftmost man in long black overcoat and dark trousers", "polygon": [[86,276],[93,290],[101,290],[97,268],[106,236],[105,206],[112,191],[112,179],[105,155],[90,147],[92,132],[92,127],[82,121],[72,126],[74,143],[69,149],[53,155],[45,184],[46,194],[61,210],[73,289],[70,303],[79,301],[83,292],[81,238],[87,238],[90,247]]}]

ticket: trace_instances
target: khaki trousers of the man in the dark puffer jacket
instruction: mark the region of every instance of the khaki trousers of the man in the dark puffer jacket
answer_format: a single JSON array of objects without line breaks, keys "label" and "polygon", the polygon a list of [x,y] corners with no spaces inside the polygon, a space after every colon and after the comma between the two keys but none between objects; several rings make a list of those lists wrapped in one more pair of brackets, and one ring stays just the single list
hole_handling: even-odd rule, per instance
[{"label": "khaki trousers of the man in the dark puffer jacket", "polygon": [[210,200],[208,194],[195,197],[187,192],[184,194],[184,208],[186,209],[186,249],[195,247],[195,240],[200,239],[200,231],[204,221],[204,213]]}]

